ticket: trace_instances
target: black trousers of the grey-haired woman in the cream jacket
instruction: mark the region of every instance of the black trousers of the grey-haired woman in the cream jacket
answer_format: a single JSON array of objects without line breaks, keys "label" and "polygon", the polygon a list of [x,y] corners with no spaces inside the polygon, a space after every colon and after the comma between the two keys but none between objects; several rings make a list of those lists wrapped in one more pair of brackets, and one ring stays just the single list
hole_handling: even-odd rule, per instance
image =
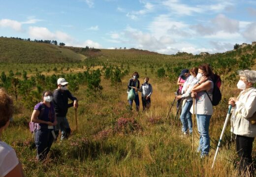
[{"label": "black trousers of the grey-haired woman in the cream jacket", "polygon": [[253,174],[253,160],[252,160],[252,149],[253,149],[254,138],[236,135],[236,151],[240,158],[239,167],[242,173]]}]

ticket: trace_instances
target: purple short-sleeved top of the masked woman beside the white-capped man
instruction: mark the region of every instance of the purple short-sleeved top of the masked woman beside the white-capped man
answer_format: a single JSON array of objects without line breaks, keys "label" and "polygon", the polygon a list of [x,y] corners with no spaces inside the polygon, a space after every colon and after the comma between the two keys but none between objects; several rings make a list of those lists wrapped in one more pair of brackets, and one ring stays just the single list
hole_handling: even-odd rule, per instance
[{"label": "purple short-sleeved top of the masked woman beside the white-capped man", "polygon": [[[47,107],[45,104],[43,104],[42,102],[36,104],[34,106],[34,110],[38,110],[40,111],[40,114],[38,116],[38,119],[40,120],[44,120],[44,121],[50,121],[50,122],[54,122],[54,117],[55,117],[55,110],[54,110],[54,105],[53,103],[50,103],[51,107]],[[48,126],[45,123],[39,123],[40,126],[46,127]]]}]

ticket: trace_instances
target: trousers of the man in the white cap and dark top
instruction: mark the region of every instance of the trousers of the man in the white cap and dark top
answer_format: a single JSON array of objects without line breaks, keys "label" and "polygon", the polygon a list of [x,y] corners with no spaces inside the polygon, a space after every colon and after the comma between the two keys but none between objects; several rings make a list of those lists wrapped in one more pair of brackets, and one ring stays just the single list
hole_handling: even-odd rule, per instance
[{"label": "trousers of the man in the white cap and dark top", "polygon": [[61,130],[62,132],[62,137],[61,140],[67,139],[69,134],[70,134],[70,127],[69,127],[69,123],[67,121],[66,117],[57,117],[57,125],[56,125],[56,137],[58,137],[59,135],[59,130]]}]

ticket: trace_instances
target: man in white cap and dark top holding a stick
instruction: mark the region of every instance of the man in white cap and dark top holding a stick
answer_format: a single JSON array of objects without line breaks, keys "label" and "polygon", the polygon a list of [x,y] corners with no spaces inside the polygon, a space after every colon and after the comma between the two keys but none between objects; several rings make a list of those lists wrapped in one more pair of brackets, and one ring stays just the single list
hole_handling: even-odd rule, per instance
[{"label": "man in white cap and dark top holding a stick", "polygon": [[[58,89],[54,90],[53,92],[53,102],[55,105],[55,112],[58,121],[55,134],[58,137],[59,130],[61,130],[61,140],[63,140],[68,138],[71,131],[66,118],[67,109],[72,106],[76,109],[78,107],[78,100],[67,89],[68,82],[66,82],[64,78],[59,78],[57,84]],[[68,104],[68,98],[73,102]]]}]

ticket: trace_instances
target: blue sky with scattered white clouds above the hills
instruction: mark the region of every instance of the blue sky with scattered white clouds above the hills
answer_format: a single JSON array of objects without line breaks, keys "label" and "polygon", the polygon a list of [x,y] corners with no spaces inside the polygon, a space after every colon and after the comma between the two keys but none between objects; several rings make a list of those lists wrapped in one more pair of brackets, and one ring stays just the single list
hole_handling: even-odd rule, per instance
[{"label": "blue sky with scattered white clouds above the hills", "polygon": [[0,0],[0,36],[222,53],[256,41],[256,0]]}]

